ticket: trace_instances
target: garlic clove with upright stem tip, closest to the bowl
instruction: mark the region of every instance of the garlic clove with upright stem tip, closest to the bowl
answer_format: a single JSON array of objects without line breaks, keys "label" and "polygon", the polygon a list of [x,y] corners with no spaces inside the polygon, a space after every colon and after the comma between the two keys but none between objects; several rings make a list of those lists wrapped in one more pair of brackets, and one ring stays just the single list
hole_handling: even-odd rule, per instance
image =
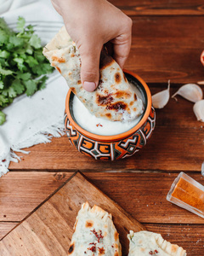
[{"label": "garlic clove with upright stem tip, closest to the bowl", "polygon": [[169,100],[170,80],[168,80],[168,87],[166,90],[161,90],[152,96],[152,104],[154,108],[164,108]]}]

